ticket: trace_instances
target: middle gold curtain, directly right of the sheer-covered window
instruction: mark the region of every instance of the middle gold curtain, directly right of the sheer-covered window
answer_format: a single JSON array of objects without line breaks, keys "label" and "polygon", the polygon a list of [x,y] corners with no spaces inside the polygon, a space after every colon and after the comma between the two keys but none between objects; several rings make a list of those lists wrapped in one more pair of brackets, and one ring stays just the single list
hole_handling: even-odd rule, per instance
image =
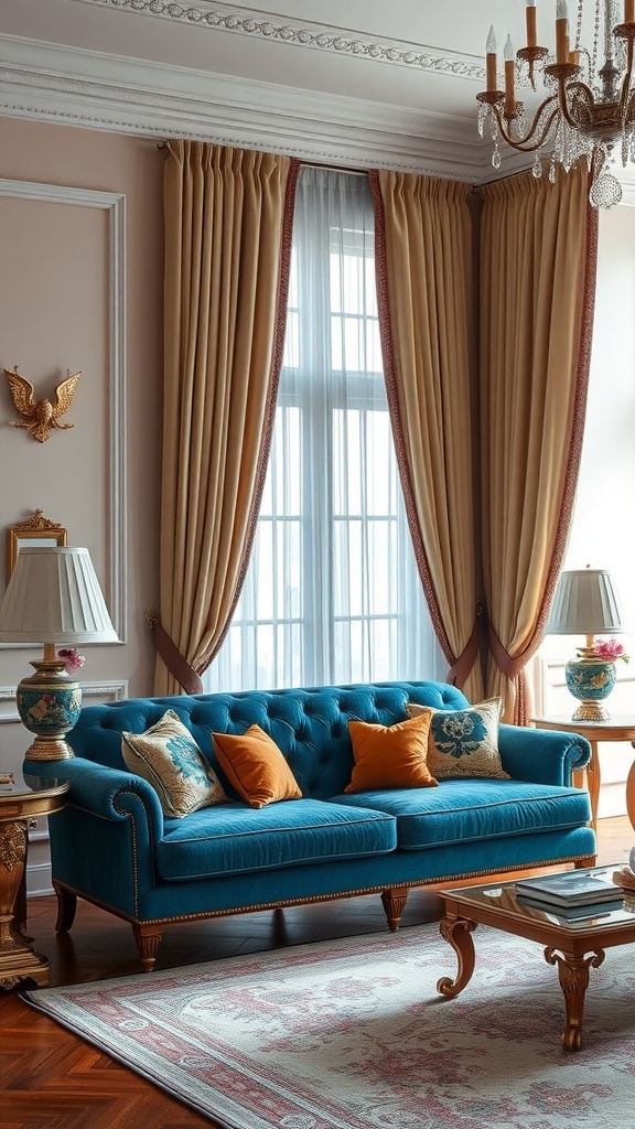
[{"label": "middle gold curtain, directly right of the sheer-covered window", "polygon": [[415,554],[449,681],[477,701],[469,187],[393,172],[369,180],[384,370]]}]

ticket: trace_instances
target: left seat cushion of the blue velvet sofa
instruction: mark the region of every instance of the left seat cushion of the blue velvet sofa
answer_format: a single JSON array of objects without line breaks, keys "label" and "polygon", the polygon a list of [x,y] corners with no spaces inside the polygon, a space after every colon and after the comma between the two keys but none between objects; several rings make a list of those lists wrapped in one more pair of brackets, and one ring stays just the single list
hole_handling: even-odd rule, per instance
[{"label": "left seat cushion of the blue velvet sofa", "polygon": [[157,867],[162,878],[182,882],[385,855],[395,847],[397,824],[389,812],[320,799],[261,808],[236,800],[166,820]]}]

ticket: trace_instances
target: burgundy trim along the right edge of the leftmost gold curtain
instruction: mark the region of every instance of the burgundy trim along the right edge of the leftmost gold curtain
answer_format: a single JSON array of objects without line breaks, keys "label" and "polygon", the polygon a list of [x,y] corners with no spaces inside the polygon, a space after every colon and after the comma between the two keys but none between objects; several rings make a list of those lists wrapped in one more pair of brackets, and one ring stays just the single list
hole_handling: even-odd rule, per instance
[{"label": "burgundy trim along the right edge of the leftmost gold curtain", "polygon": [[271,359],[271,368],[269,373],[269,394],[264,413],[262,444],[260,447],[260,457],[259,457],[256,479],[255,479],[255,490],[253,495],[251,514],[247,523],[247,533],[245,537],[241,568],[238,571],[238,583],[236,585],[236,592],[234,595],[234,599],[232,602],[232,606],[229,609],[227,622],[218,637],[216,646],[214,647],[209,658],[207,657],[203,658],[201,660],[201,664],[199,664],[200,665],[199,673],[201,674],[203,671],[207,669],[209,664],[212,663],[214,659],[216,658],[218,651],[220,650],[223,644],[225,642],[225,638],[232,624],[234,612],[236,610],[236,604],[238,603],[241,592],[243,590],[243,585],[245,583],[245,577],[247,574],[247,568],[251,559],[251,552],[253,549],[255,528],[258,525],[258,515],[260,514],[260,506],[262,502],[262,491],[264,490],[267,466],[269,463],[269,454],[271,450],[271,438],[273,435],[273,422],[276,419],[276,403],[278,400],[278,388],[280,385],[280,371],[282,369],[282,358],[285,353],[287,304],[289,297],[289,274],[290,274],[290,263],[292,263],[292,237],[294,227],[294,207],[295,207],[295,194],[296,194],[299,169],[301,169],[299,160],[293,157],[289,163],[289,175],[287,177],[287,184],[285,190],[285,212],[282,217],[282,231],[280,242],[280,273],[278,279],[278,301],[276,312],[273,356]]}]

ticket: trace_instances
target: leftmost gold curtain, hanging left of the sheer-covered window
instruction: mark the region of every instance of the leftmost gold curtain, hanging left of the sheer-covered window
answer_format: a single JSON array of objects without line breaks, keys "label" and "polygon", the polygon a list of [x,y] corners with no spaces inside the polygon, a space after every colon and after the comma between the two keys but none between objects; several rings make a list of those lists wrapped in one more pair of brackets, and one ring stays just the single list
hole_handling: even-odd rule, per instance
[{"label": "leftmost gold curtain, hanging left of the sheer-covered window", "polygon": [[223,641],[246,571],[282,357],[298,170],[270,154],[198,141],[168,148],[159,694],[201,689],[198,675]]}]

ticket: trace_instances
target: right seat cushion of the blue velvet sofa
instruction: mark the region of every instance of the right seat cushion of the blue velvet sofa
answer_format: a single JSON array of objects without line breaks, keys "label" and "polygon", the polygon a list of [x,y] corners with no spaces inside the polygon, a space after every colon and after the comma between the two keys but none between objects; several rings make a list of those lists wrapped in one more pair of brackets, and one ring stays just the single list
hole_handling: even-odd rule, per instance
[{"label": "right seat cushion of the blue velvet sofa", "polygon": [[394,815],[402,850],[563,830],[591,819],[586,791],[517,780],[443,780],[438,788],[366,791],[332,803]]}]

